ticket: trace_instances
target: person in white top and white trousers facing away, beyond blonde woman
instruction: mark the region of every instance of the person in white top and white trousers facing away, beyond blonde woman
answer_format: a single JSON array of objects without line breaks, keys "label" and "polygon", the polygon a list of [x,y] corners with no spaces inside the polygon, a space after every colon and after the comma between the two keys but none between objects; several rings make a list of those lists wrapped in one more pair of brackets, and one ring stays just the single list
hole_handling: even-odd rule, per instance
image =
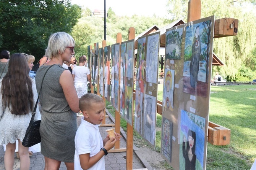
[{"label": "person in white top and white trousers facing away, beyond blonde woman", "polygon": [[76,88],[76,93],[80,99],[82,95],[87,93],[87,80],[92,84],[90,70],[88,67],[84,67],[86,59],[82,56],[79,57],[79,66],[74,67],[72,76]]}]

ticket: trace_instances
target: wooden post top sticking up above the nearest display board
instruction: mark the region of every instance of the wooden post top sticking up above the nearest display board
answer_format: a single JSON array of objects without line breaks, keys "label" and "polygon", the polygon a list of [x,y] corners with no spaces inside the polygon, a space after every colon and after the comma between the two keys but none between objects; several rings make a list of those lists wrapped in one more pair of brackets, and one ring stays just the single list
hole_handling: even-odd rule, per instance
[{"label": "wooden post top sticking up above the nearest display board", "polygon": [[201,19],[201,0],[188,1],[188,22]]}]

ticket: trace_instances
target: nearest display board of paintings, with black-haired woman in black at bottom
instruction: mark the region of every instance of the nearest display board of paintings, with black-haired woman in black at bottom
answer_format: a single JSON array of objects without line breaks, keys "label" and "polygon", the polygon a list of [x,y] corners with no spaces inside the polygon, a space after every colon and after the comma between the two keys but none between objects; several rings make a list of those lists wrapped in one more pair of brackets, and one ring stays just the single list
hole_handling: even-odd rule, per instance
[{"label": "nearest display board of paintings, with black-haired woman in black at bottom", "polygon": [[161,153],[176,170],[206,169],[214,16],[166,30]]}]

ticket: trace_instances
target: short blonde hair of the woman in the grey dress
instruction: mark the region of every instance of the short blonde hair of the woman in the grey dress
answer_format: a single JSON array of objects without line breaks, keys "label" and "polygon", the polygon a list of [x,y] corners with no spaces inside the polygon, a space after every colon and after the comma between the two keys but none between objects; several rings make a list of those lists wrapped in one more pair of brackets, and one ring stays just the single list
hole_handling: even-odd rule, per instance
[{"label": "short blonde hair of the woman in the grey dress", "polygon": [[62,54],[68,46],[75,46],[75,40],[71,35],[66,32],[53,33],[49,38],[45,55],[49,56],[51,60],[57,57],[59,52]]}]

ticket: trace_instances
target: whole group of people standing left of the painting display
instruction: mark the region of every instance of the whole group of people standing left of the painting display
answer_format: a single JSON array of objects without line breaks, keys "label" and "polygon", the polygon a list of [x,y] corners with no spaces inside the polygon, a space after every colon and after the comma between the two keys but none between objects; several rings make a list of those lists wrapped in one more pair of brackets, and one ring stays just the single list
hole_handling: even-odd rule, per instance
[{"label": "whole group of people standing left of the painting display", "polygon": [[[20,169],[30,167],[30,148],[22,141],[39,92],[41,109],[37,107],[34,120],[41,119],[45,170],[58,170],[61,162],[68,170],[105,168],[104,155],[121,136],[115,133],[115,137],[107,135],[102,140],[98,125],[105,116],[105,103],[99,95],[87,94],[87,81],[91,85],[87,59],[79,57],[76,66],[74,47],[71,35],[53,33],[37,71],[32,71],[34,56],[0,53],[0,145],[6,145],[6,170],[13,169],[16,141]],[[83,117],[77,128],[79,112]]]}]

